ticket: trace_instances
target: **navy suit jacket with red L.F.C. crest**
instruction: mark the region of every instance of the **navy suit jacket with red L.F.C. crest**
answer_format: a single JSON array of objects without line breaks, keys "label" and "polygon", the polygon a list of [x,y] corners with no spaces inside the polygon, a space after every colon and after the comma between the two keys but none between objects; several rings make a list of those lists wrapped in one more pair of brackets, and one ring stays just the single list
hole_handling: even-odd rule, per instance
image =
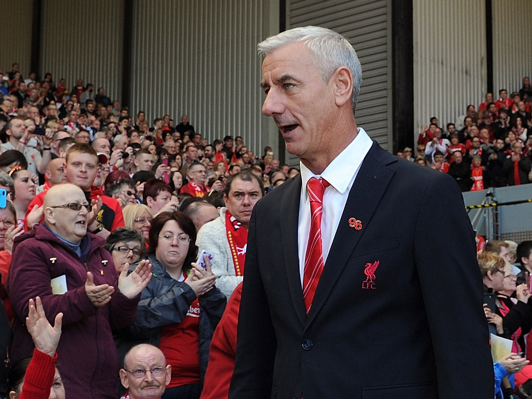
[{"label": "navy suit jacket with red L.F.C. crest", "polygon": [[456,182],[373,142],[308,317],[300,194],[297,176],[255,205],[229,398],[493,398],[475,238]]}]

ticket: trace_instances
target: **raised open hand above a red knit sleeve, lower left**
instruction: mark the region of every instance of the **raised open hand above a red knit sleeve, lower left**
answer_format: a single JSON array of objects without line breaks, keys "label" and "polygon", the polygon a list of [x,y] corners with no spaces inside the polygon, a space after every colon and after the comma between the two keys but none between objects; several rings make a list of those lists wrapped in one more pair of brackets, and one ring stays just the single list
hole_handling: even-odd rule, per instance
[{"label": "raised open hand above a red knit sleeve, lower left", "polygon": [[62,322],[63,313],[57,313],[54,327],[52,327],[46,319],[43,303],[40,301],[40,298],[36,297],[35,302],[30,299],[26,327],[38,351],[52,357],[55,355],[55,350],[57,349],[57,345],[59,345],[59,338],[61,338]]}]

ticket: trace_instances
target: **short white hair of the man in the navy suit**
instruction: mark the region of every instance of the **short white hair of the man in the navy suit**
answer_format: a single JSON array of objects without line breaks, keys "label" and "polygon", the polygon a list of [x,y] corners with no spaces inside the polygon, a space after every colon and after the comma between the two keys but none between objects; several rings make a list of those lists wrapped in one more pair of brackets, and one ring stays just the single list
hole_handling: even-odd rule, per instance
[{"label": "short white hair of the man in the navy suit", "polygon": [[356,102],[360,94],[362,82],[362,67],[355,49],[345,37],[339,33],[322,27],[306,26],[285,30],[275,36],[270,36],[257,45],[260,55],[267,55],[275,49],[297,41],[304,41],[304,45],[314,54],[315,63],[320,69],[324,81],[328,81],[332,73],[340,66],[347,66],[353,74],[353,93],[351,107],[355,112]]}]

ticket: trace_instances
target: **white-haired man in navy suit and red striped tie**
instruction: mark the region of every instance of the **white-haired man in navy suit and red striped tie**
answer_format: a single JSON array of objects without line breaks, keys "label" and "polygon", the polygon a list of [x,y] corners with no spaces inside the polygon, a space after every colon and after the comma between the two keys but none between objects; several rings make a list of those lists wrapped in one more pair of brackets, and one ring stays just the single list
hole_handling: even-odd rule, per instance
[{"label": "white-haired man in navy suit and red striped tie", "polygon": [[[342,35],[295,28],[259,51],[262,113],[301,173],[251,215],[229,399],[493,398],[459,187],[357,126],[362,71]],[[444,208],[445,246],[427,236]]]}]

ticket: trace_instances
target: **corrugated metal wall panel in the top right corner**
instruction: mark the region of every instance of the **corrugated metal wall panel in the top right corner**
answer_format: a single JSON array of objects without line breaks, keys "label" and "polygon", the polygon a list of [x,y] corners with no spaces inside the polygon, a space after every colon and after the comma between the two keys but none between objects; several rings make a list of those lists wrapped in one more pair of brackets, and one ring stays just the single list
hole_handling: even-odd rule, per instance
[{"label": "corrugated metal wall panel in the top right corner", "polygon": [[532,74],[532,2],[493,0],[493,93],[505,88],[519,91]]}]

